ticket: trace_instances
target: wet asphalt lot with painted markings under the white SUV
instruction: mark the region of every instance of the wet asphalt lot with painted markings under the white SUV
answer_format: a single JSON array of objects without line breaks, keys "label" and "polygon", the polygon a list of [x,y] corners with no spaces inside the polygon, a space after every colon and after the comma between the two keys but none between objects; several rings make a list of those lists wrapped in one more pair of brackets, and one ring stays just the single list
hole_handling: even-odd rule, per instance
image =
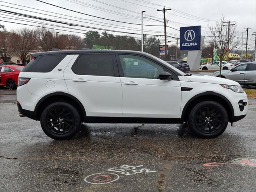
[{"label": "wet asphalt lot with painted markings under the white SUV", "polygon": [[0,89],[1,192],[256,190],[256,99],[214,139],[186,124],[82,124],[56,141],[15,103],[15,90]]}]

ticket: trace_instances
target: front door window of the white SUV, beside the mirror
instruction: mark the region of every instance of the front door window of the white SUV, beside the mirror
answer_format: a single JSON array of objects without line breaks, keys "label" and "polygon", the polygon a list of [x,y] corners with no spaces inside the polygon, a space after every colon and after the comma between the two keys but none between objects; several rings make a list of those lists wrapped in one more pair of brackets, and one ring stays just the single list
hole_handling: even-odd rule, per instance
[{"label": "front door window of the white SUV, beside the mirror", "polygon": [[162,66],[140,56],[119,55],[124,77],[157,79],[164,71]]}]

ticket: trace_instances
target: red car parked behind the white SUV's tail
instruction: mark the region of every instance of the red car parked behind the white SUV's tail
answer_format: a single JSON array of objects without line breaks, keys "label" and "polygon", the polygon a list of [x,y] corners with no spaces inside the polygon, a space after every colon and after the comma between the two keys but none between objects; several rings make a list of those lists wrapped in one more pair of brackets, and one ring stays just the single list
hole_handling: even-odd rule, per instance
[{"label": "red car parked behind the white SUV's tail", "polygon": [[18,85],[18,76],[23,68],[24,68],[23,66],[18,66],[18,65],[1,65],[0,66],[0,76],[1,76],[0,86],[6,86],[9,89],[15,89]]}]

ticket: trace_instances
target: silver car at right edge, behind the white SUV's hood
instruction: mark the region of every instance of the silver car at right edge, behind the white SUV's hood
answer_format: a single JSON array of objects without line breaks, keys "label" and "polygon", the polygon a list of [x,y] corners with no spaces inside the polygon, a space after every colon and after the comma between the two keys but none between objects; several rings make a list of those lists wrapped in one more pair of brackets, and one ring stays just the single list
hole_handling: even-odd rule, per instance
[{"label": "silver car at right edge, behind the white SUV's hood", "polygon": [[[214,72],[213,76],[219,77],[220,71]],[[222,70],[221,77],[234,80],[239,84],[256,86],[256,62],[246,62],[230,70]]]}]

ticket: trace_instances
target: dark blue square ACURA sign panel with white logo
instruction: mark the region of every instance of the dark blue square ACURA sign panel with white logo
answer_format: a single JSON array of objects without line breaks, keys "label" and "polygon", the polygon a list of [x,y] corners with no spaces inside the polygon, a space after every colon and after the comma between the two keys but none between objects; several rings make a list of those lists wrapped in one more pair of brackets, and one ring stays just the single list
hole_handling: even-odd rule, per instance
[{"label": "dark blue square ACURA sign panel with white logo", "polygon": [[200,50],[201,26],[180,28],[180,50]]}]

